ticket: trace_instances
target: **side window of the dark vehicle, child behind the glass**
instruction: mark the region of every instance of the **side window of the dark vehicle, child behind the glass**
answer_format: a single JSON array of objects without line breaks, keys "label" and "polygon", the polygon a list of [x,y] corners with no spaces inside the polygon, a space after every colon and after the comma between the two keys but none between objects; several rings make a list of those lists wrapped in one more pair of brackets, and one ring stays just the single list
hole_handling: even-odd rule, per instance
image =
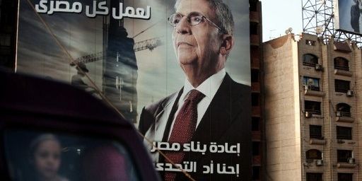
[{"label": "side window of the dark vehicle, child behind the glass", "polygon": [[4,143],[13,180],[139,180],[129,153],[116,141],[9,130]]}]

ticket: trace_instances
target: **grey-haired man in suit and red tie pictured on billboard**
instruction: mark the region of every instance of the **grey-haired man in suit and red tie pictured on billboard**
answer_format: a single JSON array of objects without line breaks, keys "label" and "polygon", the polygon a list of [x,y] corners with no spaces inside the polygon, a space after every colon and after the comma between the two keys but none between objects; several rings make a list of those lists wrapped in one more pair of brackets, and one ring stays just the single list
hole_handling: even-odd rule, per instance
[{"label": "grey-haired man in suit and red tie pictured on billboard", "polygon": [[[236,175],[203,175],[212,160],[240,164],[250,173],[250,87],[236,83],[225,69],[234,46],[234,20],[221,0],[178,0],[168,18],[178,64],[185,74],[180,91],[142,110],[139,130],[147,139],[169,143],[242,143],[241,155],[165,152],[173,163],[197,162],[196,180],[241,180]],[[156,153],[155,162],[165,162]],[[164,180],[185,180],[182,173],[161,173]],[[243,178],[245,179],[245,177]],[[246,179],[248,180],[248,179]]]}]

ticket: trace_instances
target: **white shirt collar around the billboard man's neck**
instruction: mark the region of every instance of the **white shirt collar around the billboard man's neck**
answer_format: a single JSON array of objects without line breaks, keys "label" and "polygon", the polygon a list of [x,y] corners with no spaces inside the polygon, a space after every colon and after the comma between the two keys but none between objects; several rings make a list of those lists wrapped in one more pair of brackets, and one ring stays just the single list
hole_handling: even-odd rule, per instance
[{"label": "white shirt collar around the billboard man's neck", "polygon": [[205,95],[206,98],[210,98],[211,100],[214,98],[214,95],[218,91],[218,88],[221,86],[221,83],[223,82],[223,78],[226,75],[225,69],[221,69],[216,74],[210,76],[207,78],[204,82],[202,82],[197,88],[194,88],[194,86],[189,83],[189,80],[185,78],[185,86],[184,86],[184,93],[182,94],[182,100],[185,100],[188,95],[189,91],[192,89],[196,89],[197,91],[200,91]]}]

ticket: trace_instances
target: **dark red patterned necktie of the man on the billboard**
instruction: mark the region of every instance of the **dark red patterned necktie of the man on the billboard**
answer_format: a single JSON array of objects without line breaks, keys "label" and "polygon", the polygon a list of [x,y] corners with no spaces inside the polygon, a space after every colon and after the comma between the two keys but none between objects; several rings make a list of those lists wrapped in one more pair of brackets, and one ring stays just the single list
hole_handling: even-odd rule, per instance
[{"label": "dark red patterned necktie of the man on the billboard", "polygon": [[[197,123],[197,104],[205,97],[203,93],[193,89],[190,91],[185,103],[182,105],[180,111],[173,124],[173,130],[170,135],[169,143],[179,143],[181,145],[189,143],[196,129]],[[165,156],[170,158],[173,163],[181,163],[185,156],[185,152],[166,152]],[[165,173],[165,181],[175,180],[176,173]]]}]

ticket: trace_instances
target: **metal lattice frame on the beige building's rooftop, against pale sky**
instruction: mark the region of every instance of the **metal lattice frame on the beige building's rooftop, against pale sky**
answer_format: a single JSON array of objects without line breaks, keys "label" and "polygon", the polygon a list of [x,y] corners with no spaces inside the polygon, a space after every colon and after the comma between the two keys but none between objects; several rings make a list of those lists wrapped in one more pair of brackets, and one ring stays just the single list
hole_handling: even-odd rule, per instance
[{"label": "metal lattice frame on the beige building's rooftop, against pale sky", "polygon": [[334,38],[339,42],[349,40],[362,48],[361,35],[334,28],[334,1],[302,0],[303,32],[317,35],[325,44]]}]

